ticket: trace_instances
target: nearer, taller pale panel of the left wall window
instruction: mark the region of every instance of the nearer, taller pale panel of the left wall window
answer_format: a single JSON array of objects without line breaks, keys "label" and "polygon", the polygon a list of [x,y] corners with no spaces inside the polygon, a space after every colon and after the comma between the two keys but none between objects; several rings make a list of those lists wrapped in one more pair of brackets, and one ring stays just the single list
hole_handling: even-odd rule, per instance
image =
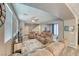
[{"label": "nearer, taller pale panel of the left wall window", "polygon": [[5,29],[4,29],[4,42],[6,43],[8,40],[12,38],[12,14],[9,11],[8,7],[6,7],[6,20],[5,20]]}]

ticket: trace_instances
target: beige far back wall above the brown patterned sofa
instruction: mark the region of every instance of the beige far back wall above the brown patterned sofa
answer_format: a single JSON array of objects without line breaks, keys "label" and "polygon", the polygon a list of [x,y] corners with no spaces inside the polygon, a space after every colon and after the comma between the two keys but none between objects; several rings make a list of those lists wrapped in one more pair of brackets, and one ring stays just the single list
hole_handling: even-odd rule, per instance
[{"label": "beige far back wall above the brown patterned sofa", "polygon": [[50,30],[52,32],[52,26],[49,24],[49,25],[45,25],[45,24],[40,24],[40,25],[29,25],[27,24],[26,26],[25,25],[21,25],[22,27],[22,32],[23,34],[28,34],[30,31],[38,31],[38,32],[42,32],[44,30],[45,27],[48,28],[48,30]]}]

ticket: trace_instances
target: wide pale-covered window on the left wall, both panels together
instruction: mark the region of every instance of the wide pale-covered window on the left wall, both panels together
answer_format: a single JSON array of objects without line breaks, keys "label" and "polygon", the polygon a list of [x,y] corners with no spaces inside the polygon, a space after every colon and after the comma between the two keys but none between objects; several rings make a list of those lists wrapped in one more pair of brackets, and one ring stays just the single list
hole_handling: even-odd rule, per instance
[{"label": "wide pale-covered window on the left wall, both panels together", "polygon": [[8,40],[12,39],[18,33],[18,20],[11,13],[11,11],[6,7],[6,20],[4,24],[4,42],[6,43]]}]

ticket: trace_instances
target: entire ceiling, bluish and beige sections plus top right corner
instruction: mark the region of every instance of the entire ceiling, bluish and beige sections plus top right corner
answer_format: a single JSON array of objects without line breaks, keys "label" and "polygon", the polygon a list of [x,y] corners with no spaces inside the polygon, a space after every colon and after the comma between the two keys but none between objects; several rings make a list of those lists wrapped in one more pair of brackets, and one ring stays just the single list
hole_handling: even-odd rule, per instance
[{"label": "entire ceiling, bluish and beige sections plus top right corner", "polygon": [[[26,23],[32,23],[32,18],[38,19],[37,23],[53,23],[60,19],[74,19],[74,15],[65,3],[15,3],[12,4],[18,18]],[[79,17],[79,4],[68,4]]]}]

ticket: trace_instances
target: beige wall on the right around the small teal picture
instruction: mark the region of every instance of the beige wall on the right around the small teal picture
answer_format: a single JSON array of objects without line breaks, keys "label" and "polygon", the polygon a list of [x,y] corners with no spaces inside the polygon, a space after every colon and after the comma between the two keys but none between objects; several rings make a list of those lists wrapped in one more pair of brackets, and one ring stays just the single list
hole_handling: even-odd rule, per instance
[{"label": "beige wall on the right around the small teal picture", "polygon": [[73,32],[64,31],[64,38],[68,39],[69,46],[77,48],[77,40],[78,40],[78,23],[76,19],[65,20],[64,26],[74,26]]}]

